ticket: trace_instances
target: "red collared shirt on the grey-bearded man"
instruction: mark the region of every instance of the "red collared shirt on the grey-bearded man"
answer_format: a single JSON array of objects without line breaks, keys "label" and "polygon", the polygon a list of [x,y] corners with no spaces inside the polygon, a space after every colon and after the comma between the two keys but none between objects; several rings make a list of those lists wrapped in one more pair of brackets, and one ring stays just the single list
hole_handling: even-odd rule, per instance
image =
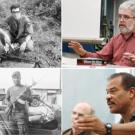
[{"label": "red collared shirt on the grey-bearded man", "polygon": [[87,52],[83,57],[102,58],[116,65],[135,67],[135,63],[123,58],[126,52],[135,54],[135,33],[127,39],[122,34],[118,34],[112,37],[102,50],[95,53]]}]

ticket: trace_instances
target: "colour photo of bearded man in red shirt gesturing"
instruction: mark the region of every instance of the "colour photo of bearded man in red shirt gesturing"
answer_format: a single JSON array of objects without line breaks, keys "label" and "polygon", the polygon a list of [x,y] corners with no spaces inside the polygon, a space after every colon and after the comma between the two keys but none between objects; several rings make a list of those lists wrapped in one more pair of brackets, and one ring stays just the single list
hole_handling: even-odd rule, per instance
[{"label": "colour photo of bearded man in red shirt gesturing", "polygon": [[62,0],[62,67],[135,67],[134,0]]}]

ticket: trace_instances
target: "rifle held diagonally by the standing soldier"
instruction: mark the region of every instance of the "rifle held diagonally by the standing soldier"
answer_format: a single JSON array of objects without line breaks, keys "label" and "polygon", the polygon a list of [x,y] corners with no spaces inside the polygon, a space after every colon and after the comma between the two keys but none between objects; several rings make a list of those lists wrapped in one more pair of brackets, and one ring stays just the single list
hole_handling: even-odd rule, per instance
[{"label": "rifle held diagonally by the standing soldier", "polygon": [[30,89],[31,87],[33,87],[35,84],[36,84],[36,83],[33,82],[32,85],[27,86],[27,87],[25,88],[25,90],[22,91],[22,92],[17,96],[17,98],[16,98],[11,104],[9,104],[9,106],[5,109],[5,113],[6,113],[6,115],[7,115],[7,118],[9,118],[9,116],[10,116],[11,113],[12,113],[13,104],[24,94],[25,91],[27,91],[28,89]]}]

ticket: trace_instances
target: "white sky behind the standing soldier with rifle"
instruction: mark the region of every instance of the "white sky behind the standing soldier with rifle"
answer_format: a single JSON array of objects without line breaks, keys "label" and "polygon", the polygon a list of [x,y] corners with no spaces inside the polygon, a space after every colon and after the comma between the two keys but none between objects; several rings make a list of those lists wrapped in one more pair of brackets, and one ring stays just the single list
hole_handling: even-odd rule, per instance
[{"label": "white sky behind the standing soldier with rifle", "polygon": [[13,85],[11,76],[14,71],[20,71],[24,85],[31,85],[33,80],[37,82],[34,88],[60,89],[59,68],[1,68],[0,88],[7,89]]}]

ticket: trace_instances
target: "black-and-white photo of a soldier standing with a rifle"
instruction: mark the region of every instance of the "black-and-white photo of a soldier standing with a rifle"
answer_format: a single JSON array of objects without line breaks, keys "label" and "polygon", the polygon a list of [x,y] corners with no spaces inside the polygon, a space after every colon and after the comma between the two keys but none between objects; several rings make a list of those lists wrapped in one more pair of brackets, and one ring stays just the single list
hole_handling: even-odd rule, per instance
[{"label": "black-and-white photo of a soldier standing with a rifle", "polygon": [[60,69],[6,68],[0,74],[0,135],[60,135]]}]

